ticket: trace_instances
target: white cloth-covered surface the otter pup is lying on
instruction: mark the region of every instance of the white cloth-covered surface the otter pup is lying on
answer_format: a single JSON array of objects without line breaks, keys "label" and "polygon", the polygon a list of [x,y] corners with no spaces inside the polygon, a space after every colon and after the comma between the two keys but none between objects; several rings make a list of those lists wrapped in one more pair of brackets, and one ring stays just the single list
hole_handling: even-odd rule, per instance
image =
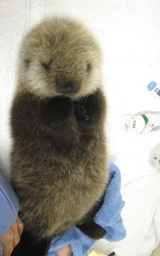
[{"label": "white cloth-covered surface the otter pup is lying on", "polygon": [[121,132],[123,114],[159,111],[160,100],[148,93],[160,82],[159,0],[1,0],[0,1],[0,161],[10,170],[8,116],[15,86],[18,43],[22,34],[44,16],[80,18],[103,48],[103,84],[108,96],[110,161],[120,167],[127,237],[118,243],[99,241],[105,252],[148,256],[160,239],[160,174],[148,164],[148,153],[160,132]]}]

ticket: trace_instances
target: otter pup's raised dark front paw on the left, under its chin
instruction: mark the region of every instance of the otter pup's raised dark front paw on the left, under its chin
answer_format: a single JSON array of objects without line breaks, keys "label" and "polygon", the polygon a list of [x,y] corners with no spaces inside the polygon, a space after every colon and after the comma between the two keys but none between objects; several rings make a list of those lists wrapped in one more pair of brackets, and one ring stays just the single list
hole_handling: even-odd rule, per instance
[{"label": "otter pup's raised dark front paw on the left, under its chin", "polygon": [[68,98],[55,97],[50,99],[44,107],[43,119],[45,124],[52,129],[61,127],[73,108],[73,103]]}]

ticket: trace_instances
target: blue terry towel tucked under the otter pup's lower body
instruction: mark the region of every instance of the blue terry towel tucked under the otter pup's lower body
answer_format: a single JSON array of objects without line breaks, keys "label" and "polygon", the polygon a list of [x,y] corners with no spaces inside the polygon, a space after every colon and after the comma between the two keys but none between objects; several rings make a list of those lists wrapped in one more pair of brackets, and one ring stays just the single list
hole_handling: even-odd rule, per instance
[{"label": "blue terry towel tucked under the otter pup's lower body", "polygon": [[[95,214],[94,221],[99,224],[107,233],[104,239],[116,242],[125,238],[126,231],[121,218],[121,210],[124,206],[121,197],[121,174],[116,165],[109,164],[110,183],[106,190],[103,205]],[[54,256],[54,251],[70,244],[72,255],[84,256],[93,246],[95,240],[84,235],[77,227],[71,227],[64,234],[56,236],[50,245],[47,256]]]}]

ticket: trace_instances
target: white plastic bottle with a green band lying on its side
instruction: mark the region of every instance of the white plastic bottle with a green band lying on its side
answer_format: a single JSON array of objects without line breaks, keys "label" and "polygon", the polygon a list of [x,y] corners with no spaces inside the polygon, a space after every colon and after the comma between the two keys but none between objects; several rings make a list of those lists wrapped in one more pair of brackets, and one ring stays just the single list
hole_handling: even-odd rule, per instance
[{"label": "white plastic bottle with a green band lying on its side", "polygon": [[153,128],[155,129],[156,127],[160,128],[160,112],[124,116],[123,131],[143,133],[152,131]]}]

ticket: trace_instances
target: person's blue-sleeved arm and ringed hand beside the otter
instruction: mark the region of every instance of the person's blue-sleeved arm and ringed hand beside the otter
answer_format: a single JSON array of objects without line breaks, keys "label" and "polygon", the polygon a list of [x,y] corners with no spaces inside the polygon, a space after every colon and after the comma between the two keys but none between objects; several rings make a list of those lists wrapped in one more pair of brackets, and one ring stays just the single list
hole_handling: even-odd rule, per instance
[{"label": "person's blue-sleeved arm and ringed hand beside the otter", "polygon": [[3,249],[3,256],[10,256],[20,241],[24,225],[18,209],[18,197],[0,170],[0,251]]}]

